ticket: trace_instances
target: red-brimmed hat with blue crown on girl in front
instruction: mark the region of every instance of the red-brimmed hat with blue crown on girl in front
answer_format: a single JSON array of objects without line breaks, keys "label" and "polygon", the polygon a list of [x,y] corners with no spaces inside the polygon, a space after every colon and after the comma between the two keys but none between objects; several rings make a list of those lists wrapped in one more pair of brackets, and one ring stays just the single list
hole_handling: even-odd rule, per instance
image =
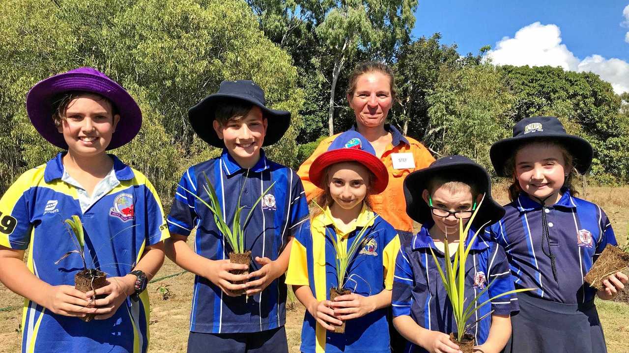
[{"label": "red-brimmed hat with blue crown on girl in front", "polygon": [[389,172],[379,158],[376,150],[364,136],[356,131],[345,131],[332,141],[328,151],[318,156],[308,171],[310,181],[323,188],[323,172],[335,163],[358,162],[369,169],[376,179],[372,185],[371,193],[381,193],[389,184]]}]

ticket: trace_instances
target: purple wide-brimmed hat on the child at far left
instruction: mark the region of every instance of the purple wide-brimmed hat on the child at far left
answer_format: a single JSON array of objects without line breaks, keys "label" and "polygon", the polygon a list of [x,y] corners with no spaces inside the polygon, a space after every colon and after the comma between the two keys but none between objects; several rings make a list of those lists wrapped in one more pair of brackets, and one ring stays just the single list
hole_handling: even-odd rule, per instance
[{"label": "purple wide-brimmed hat on the child at far left", "polygon": [[123,146],[140,131],[142,112],[133,97],[104,73],[91,67],[80,67],[38,82],[26,95],[28,117],[38,133],[48,142],[58,148],[68,149],[64,135],[58,132],[52,120],[52,99],[58,94],[73,90],[102,95],[111,100],[120,112],[120,121],[107,149]]}]

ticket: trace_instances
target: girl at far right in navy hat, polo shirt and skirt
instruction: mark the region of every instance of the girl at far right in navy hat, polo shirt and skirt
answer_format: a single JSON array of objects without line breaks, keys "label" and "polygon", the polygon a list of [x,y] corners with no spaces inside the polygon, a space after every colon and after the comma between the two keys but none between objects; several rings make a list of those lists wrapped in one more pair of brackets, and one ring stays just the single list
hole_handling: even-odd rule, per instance
[{"label": "girl at far right in navy hat, polo shirt and skirt", "polygon": [[612,274],[596,291],[584,275],[607,244],[616,245],[610,220],[591,202],[576,197],[575,171],[586,173],[592,146],[567,134],[557,117],[528,117],[513,137],[491,146],[499,176],[513,178],[506,214],[489,236],[507,251],[520,313],[505,352],[606,352],[594,296],[610,300],[627,276]]}]

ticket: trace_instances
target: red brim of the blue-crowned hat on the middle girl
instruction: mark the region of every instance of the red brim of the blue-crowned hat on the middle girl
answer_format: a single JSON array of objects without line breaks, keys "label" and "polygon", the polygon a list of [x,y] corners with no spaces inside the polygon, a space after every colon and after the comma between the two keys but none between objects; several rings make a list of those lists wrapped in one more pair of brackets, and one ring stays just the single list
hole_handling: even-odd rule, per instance
[{"label": "red brim of the blue-crowned hat on the middle girl", "polygon": [[387,167],[384,166],[384,163],[369,152],[353,148],[333,149],[321,153],[321,155],[313,161],[313,164],[310,165],[310,170],[308,171],[310,181],[316,186],[323,188],[322,183],[324,182],[323,174],[325,168],[335,163],[347,161],[360,163],[374,173],[375,180],[370,193],[381,193],[387,188],[387,185],[389,185],[389,172],[387,171]]}]

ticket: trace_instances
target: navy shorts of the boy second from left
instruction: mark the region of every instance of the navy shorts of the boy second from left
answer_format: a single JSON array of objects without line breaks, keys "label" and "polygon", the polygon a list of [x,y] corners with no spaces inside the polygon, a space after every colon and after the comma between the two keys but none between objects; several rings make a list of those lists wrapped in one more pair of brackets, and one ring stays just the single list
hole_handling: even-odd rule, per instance
[{"label": "navy shorts of the boy second from left", "polygon": [[238,334],[190,332],[188,353],[288,353],[286,330],[282,326]]}]

